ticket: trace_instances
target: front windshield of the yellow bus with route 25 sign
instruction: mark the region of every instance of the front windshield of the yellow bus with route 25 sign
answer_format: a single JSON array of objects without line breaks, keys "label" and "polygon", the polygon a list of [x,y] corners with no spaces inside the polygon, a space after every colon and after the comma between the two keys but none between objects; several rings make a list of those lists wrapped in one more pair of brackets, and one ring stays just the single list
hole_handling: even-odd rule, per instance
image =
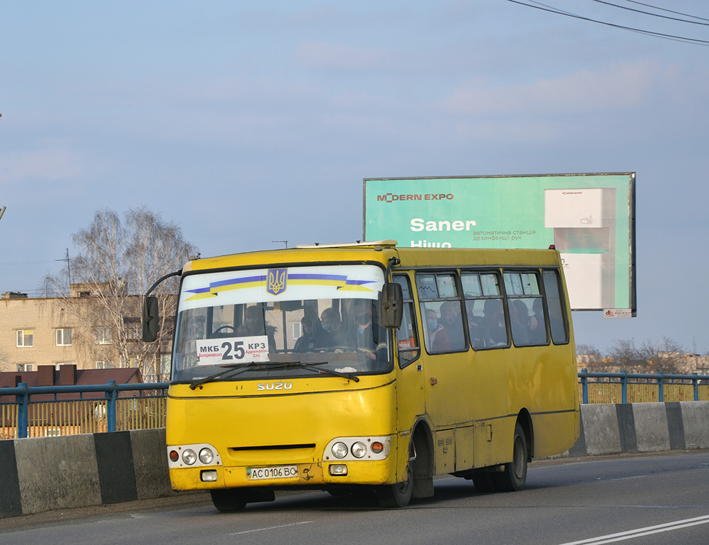
[{"label": "front windshield of the yellow bus with route 25 sign", "polygon": [[383,284],[373,265],[187,274],[172,381],[390,371],[389,335],[377,312]]}]

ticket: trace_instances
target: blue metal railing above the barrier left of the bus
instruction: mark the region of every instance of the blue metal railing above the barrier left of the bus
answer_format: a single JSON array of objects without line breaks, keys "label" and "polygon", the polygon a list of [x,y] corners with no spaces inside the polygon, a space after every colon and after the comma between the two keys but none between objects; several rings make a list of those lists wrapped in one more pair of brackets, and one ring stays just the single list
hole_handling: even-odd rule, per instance
[{"label": "blue metal railing above the barrier left of the bus", "polygon": [[[116,381],[108,381],[106,384],[98,385],[82,385],[82,386],[27,386],[27,383],[19,383],[16,388],[0,388],[0,398],[4,395],[14,395],[15,405],[18,408],[17,415],[17,437],[18,439],[23,439],[28,437],[28,427],[29,422],[29,408],[30,408],[30,397],[32,395],[39,394],[50,394],[54,395],[55,401],[58,400],[57,394],[60,393],[78,393],[79,400],[91,399],[96,400],[100,398],[87,397],[84,398],[85,393],[104,393],[104,400],[106,400],[106,431],[115,432],[116,431],[116,401],[120,398],[118,396],[119,392],[140,392],[140,397],[143,397],[143,392],[145,391],[160,391],[159,395],[152,395],[150,397],[166,397],[167,388],[169,383],[167,382],[157,382],[157,383],[135,383],[135,384],[116,384]],[[67,400],[69,401],[69,400]],[[75,400],[71,400],[75,401]],[[4,423],[3,423],[4,424]]]}]

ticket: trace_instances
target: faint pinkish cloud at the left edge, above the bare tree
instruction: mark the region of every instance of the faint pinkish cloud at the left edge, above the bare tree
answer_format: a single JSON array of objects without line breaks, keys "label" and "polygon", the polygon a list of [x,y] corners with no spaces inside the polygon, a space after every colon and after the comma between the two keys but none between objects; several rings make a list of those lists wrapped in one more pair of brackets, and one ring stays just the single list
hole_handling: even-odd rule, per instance
[{"label": "faint pinkish cloud at the left edge, above the bare tree", "polygon": [[66,150],[34,150],[0,154],[0,184],[28,178],[60,180],[81,174],[77,154]]}]

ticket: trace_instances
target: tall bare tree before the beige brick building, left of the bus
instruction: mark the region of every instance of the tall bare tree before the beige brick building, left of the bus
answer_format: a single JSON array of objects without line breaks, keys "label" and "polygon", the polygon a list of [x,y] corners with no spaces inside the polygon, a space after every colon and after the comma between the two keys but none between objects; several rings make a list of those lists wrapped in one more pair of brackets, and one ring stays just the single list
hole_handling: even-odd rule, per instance
[{"label": "tall bare tree before the beige brick building, left of the bus", "polygon": [[161,276],[182,268],[196,247],[184,241],[177,225],[146,208],[128,210],[123,222],[113,210],[99,210],[72,240],[77,256],[67,263],[68,297],[59,289],[66,285],[60,279],[48,277],[45,283],[68,299],[67,310],[82,325],[79,338],[103,351],[107,361],[117,352],[121,366],[138,366],[144,377],[157,375],[158,358],[168,352],[172,338],[177,280],[165,281],[154,292],[161,316],[157,343],[140,339],[142,296]]}]

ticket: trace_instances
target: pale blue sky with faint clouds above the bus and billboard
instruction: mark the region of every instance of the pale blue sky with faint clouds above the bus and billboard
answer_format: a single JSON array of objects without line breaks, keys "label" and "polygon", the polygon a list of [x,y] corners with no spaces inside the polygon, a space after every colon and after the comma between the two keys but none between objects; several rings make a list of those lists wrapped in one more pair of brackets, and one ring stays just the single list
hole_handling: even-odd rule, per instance
[{"label": "pale blue sky with faint clouds above the bus and billboard", "polygon": [[0,0],[0,291],[40,295],[106,208],[208,256],[359,240],[364,178],[636,172],[637,317],[576,312],[576,343],[708,354],[709,6],[520,1],[615,26],[508,0]]}]

